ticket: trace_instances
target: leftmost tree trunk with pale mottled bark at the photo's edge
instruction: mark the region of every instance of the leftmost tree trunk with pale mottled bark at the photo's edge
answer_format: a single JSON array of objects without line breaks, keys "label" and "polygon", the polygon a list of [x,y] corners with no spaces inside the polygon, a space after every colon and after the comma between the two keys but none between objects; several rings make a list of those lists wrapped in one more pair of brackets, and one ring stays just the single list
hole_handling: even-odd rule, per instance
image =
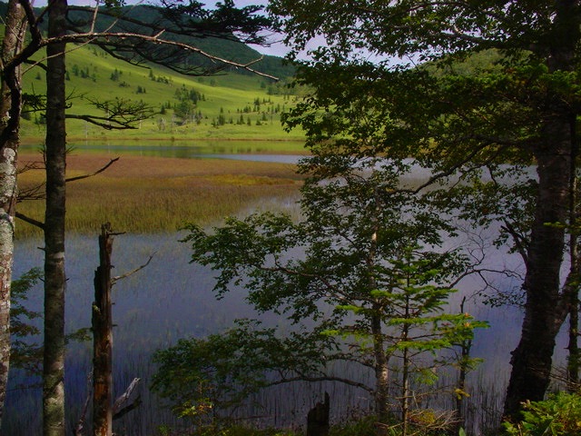
[{"label": "leftmost tree trunk with pale mottled bark at the photo's edge", "polygon": [[15,0],[8,3],[5,37],[2,42],[2,85],[0,89],[0,426],[10,367],[10,283],[14,259],[16,156],[20,144],[21,69],[5,64],[24,42],[24,11]]}]

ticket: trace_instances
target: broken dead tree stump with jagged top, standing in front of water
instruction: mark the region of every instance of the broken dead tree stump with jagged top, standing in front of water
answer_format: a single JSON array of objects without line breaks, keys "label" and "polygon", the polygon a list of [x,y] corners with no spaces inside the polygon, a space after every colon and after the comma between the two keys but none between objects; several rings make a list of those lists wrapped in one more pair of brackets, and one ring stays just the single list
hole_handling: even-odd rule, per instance
[{"label": "broken dead tree stump with jagged top, standing in front of water", "polygon": [[103,224],[99,236],[99,267],[94,272],[93,304],[93,434],[113,433],[113,319],[111,313],[111,227]]}]

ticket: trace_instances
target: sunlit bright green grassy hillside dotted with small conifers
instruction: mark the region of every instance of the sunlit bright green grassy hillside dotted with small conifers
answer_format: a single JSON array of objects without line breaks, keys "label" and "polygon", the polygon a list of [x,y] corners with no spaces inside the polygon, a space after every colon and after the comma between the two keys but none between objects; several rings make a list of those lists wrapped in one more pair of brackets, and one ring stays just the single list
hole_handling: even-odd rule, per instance
[{"label": "sunlit bright green grassy hillside dotted with small conifers", "polygon": [[[154,111],[136,129],[124,131],[68,120],[70,142],[302,138],[300,132],[287,134],[281,127],[281,112],[297,98],[284,83],[259,75],[235,73],[188,77],[156,65],[143,68],[126,64],[88,45],[68,45],[68,48],[66,89],[71,106],[68,114],[103,115],[90,102],[113,99],[143,101]],[[28,69],[23,85],[25,93],[44,94],[44,71],[38,66]],[[42,114],[28,113],[25,118],[23,142],[38,142],[44,137]]]}]

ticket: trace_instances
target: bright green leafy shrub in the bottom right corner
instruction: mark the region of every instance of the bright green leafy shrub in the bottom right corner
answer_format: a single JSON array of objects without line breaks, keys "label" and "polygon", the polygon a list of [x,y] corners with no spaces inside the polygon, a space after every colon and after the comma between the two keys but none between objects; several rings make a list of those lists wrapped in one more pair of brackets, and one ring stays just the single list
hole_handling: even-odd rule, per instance
[{"label": "bright green leafy shrub in the bottom right corner", "polygon": [[581,432],[581,397],[576,393],[558,392],[545,401],[527,401],[522,420],[504,422],[511,436],[574,436]]}]

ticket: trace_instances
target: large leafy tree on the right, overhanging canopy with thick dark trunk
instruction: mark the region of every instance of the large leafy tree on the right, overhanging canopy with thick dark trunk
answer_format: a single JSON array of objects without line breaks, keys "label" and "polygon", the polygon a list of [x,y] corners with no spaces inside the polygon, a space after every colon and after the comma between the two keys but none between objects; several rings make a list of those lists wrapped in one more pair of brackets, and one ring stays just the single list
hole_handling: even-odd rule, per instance
[{"label": "large leafy tree on the right, overhanging canopy with thick dark trunk", "polygon": [[[576,292],[561,276],[565,233],[547,223],[576,219],[579,3],[272,0],[269,8],[291,58],[307,51],[299,83],[312,92],[287,115],[289,128],[302,127],[311,145],[338,139],[359,156],[413,158],[431,175],[419,190],[438,191],[440,204],[499,231],[497,243],[522,257],[527,329],[506,412],[543,398]],[[309,50],[315,37],[326,44]],[[494,63],[467,63],[471,56]]]}]

